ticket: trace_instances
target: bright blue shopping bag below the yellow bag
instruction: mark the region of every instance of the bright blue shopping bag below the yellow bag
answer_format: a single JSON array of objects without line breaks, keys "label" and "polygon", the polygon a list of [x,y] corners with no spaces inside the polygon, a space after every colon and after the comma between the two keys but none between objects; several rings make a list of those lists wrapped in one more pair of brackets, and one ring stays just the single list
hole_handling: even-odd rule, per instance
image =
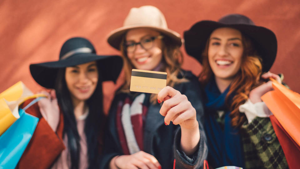
[{"label": "bright blue shopping bag below the yellow bag", "polygon": [[17,166],[37,126],[37,117],[22,109],[19,115],[20,118],[0,136],[0,169]]}]

